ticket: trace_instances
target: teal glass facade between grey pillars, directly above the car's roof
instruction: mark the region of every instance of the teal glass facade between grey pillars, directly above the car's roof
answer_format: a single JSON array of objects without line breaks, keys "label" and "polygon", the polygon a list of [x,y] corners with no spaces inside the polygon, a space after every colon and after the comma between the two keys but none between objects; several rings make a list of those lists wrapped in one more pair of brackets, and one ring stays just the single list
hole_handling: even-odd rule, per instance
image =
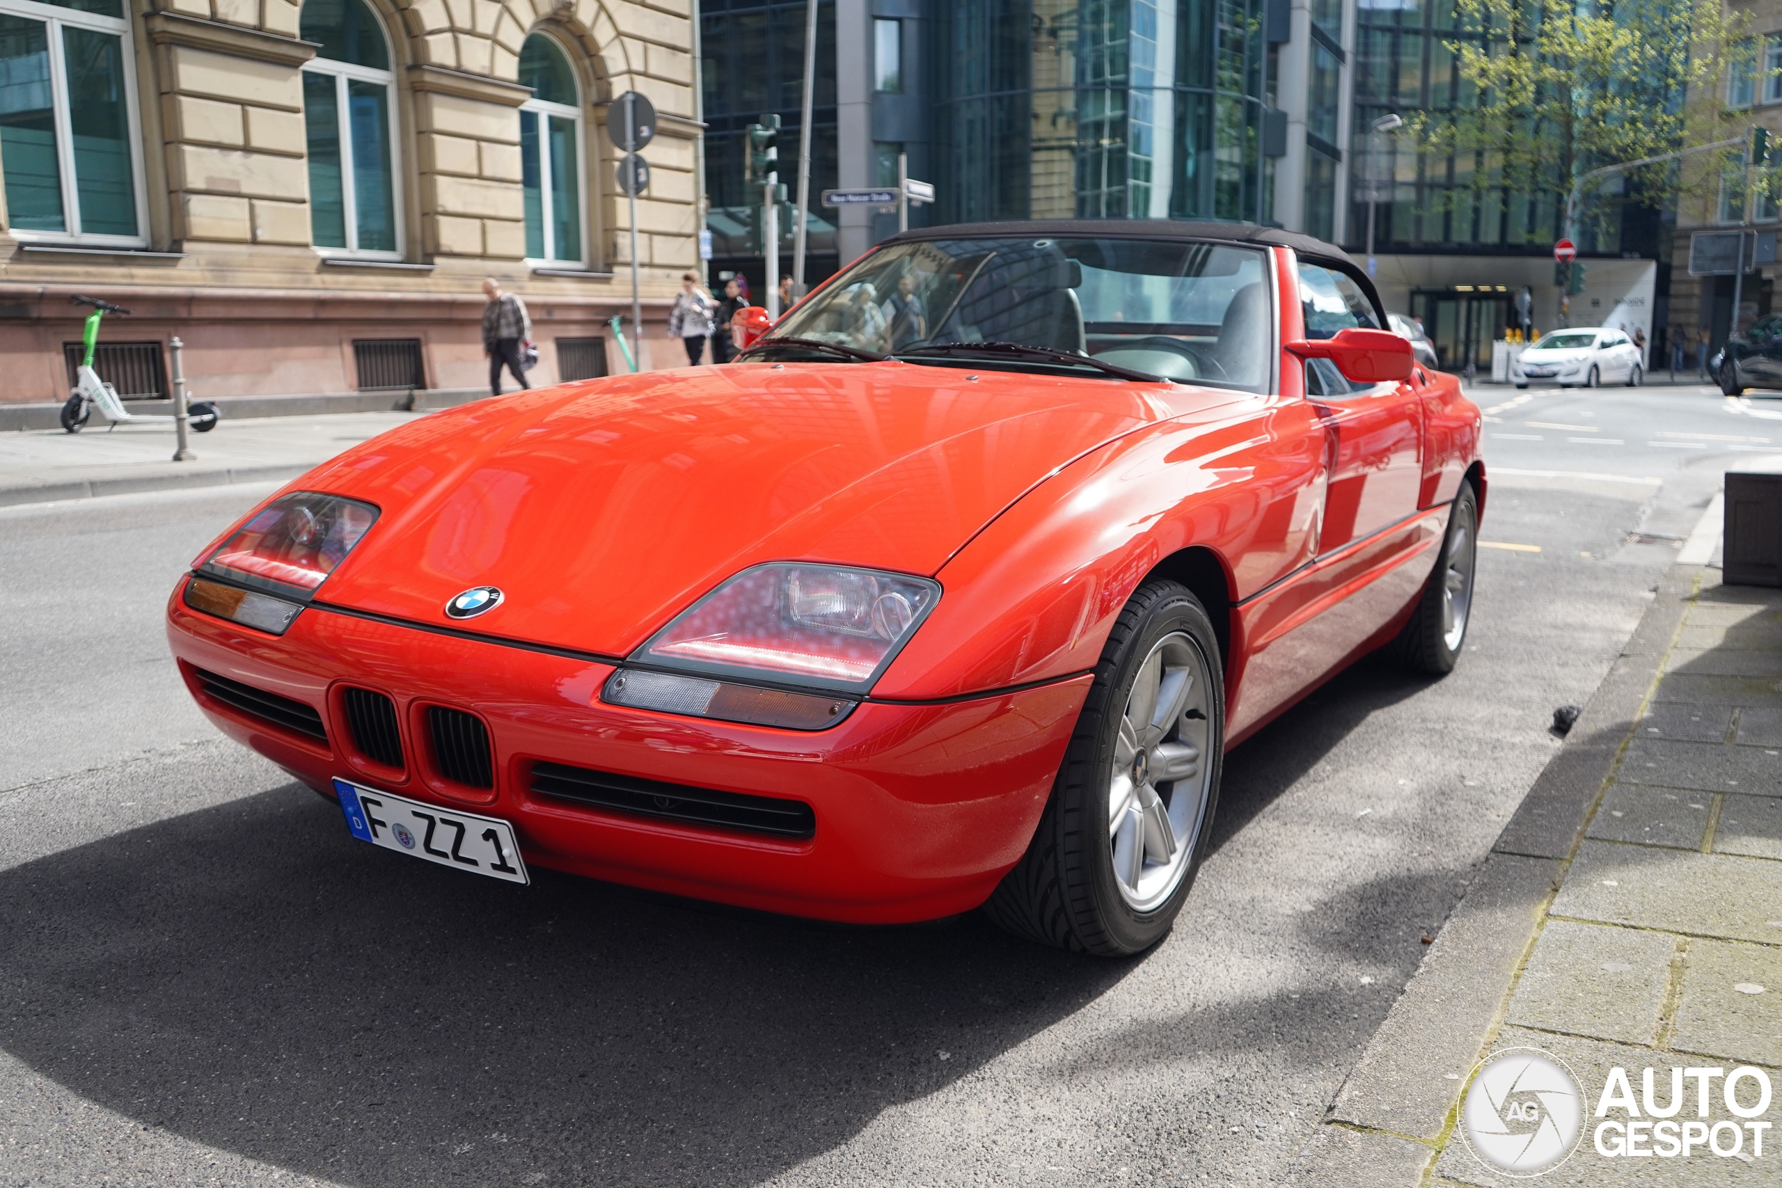
[{"label": "teal glass facade between grey pillars, directly above the car's roof", "polygon": [[1262,11],[959,0],[934,21],[936,221],[1269,221]]}]

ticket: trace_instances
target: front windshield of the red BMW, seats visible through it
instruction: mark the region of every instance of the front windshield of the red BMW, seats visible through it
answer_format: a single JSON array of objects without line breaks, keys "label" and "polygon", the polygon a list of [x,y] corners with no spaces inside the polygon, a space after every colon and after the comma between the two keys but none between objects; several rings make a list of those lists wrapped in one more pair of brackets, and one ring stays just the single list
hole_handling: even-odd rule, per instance
[{"label": "front windshield of the red BMW, seats visible through it", "polygon": [[[973,344],[1087,356],[1181,383],[1271,381],[1267,258],[1255,248],[1133,239],[937,239],[862,256],[757,344],[781,338],[994,365]],[[836,358],[786,344],[770,358]],[[1021,358],[1001,365],[1087,367]]]}]

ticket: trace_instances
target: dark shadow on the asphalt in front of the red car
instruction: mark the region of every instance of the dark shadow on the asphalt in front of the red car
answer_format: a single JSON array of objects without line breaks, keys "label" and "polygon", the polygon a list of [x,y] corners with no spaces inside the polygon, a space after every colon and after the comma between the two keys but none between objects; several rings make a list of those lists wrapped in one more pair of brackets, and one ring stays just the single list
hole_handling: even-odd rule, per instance
[{"label": "dark shadow on the asphalt in front of the red car", "polygon": [[978,917],[843,928],[465,878],[353,842],[298,785],[0,873],[0,1046],[43,1076],[380,1186],[757,1183],[1133,967]]}]

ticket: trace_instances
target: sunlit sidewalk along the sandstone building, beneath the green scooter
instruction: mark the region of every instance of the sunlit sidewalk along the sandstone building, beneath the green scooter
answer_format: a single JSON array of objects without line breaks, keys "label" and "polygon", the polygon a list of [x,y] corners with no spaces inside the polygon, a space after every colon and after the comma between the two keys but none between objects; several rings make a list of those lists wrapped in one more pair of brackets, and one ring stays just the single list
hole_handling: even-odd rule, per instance
[{"label": "sunlit sidewalk along the sandstone building, beneath the green scooter", "polygon": [[192,461],[171,461],[173,426],[0,435],[0,506],[130,495],[178,486],[294,479],[340,451],[428,413],[328,413],[223,420],[192,433]]}]

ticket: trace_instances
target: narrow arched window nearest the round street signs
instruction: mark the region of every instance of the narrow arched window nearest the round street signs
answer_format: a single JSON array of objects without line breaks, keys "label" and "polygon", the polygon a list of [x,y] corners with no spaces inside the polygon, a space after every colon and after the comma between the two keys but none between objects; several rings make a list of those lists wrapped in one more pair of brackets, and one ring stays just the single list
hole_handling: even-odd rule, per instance
[{"label": "narrow arched window nearest the round street signs", "polygon": [[526,255],[583,262],[581,98],[556,41],[533,34],[520,46],[520,176],[526,183]]}]

